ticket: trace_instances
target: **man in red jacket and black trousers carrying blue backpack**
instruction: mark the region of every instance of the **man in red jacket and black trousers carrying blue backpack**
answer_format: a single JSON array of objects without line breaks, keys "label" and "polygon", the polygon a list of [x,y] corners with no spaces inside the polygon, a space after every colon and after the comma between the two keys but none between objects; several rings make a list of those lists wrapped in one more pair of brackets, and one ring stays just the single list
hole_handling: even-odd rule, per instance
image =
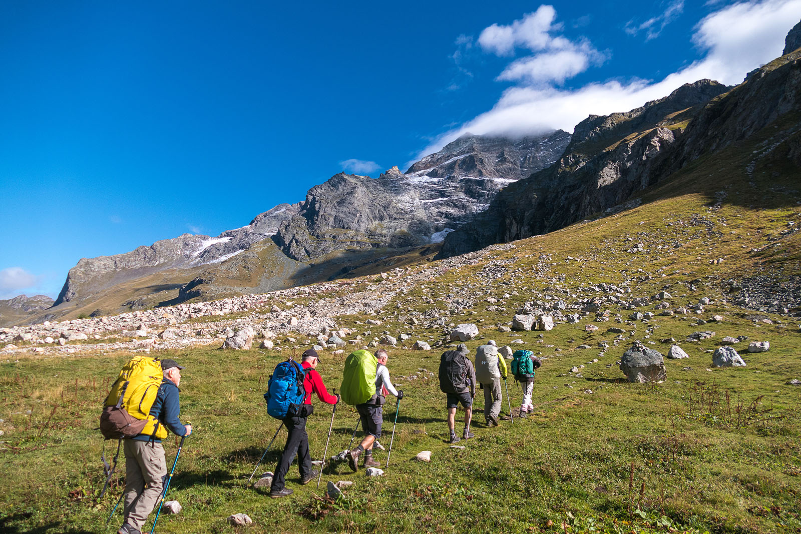
[{"label": "man in red jacket and black trousers carrying blue backpack", "polygon": [[284,477],[296,455],[300,484],[308,484],[320,474],[319,471],[312,471],[312,456],[308,452],[306,433],[306,418],[313,412],[312,393],[316,393],[327,404],[338,403],[340,397],[328,393],[320,373],[315,370],[318,363],[320,355],[312,348],[303,353],[300,365],[292,360],[279,363],[268,383],[268,392],[264,395],[268,414],[280,419],[289,433],[284,452],[272,476],[270,496],[273,499],[292,495],[293,490],[285,486]]}]

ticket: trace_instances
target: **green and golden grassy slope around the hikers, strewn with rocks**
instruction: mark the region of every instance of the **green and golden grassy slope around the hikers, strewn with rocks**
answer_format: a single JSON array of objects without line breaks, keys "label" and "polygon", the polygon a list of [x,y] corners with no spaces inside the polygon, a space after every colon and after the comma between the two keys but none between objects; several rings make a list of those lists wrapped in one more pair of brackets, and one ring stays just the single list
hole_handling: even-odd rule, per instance
[{"label": "green and golden grassy slope around the hikers, strewn with rocks", "polygon": [[[547,358],[537,374],[536,413],[497,429],[483,428],[477,416],[477,438],[461,443],[465,451],[450,449],[444,441],[444,395],[435,377],[424,379],[428,375],[417,371],[436,372],[439,351],[392,350],[393,378],[409,395],[400,406],[392,465],[380,479],[354,475],[347,467],[324,475],[324,481],[356,483],[336,503],[320,500],[322,486],[317,491],[313,484],[296,484],[296,468],[288,479],[296,495],[289,499],[270,500],[246,484],[277,428],[261,394],[279,355],[258,350],[223,355],[210,349],[172,354],[188,367],[182,411],[197,435],[187,440],[171,490],[184,511],[160,519],[159,532],[234,532],[225,517],[235,512],[254,520],[243,532],[655,532],[666,531],[654,526],[662,515],[680,531],[798,532],[801,400],[799,390],[785,383],[801,379],[795,348],[801,335],[786,326],[787,318],[772,316],[774,324],[745,319],[742,310],[722,302],[726,295],[718,287],[719,279],[766,269],[799,273],[798,238],[771,241],[787,222],[801,219],[799,194],[792,189],[795,176],[776,162],[757,165],[751,178],[745,172],[762,141],[695,163],[669,185],[646,191],[641,207],[500,247],[476,265],[443,268],[433,282],[399,295],[400,307],[388,306],[387,322],[366,337],[386,330],[440,339],[440,329],[403,323],[414,308],[445,316],[447,322],[476,322],[483,337],[499,344],[521,339],[522,346]],[[722,191],[727,197],[714,207]],[[627,239],[643,243],[646,252],[626,253],[632,244]],[[725,260],[709,263],[718,258]],[[486,273],[492,269],[501,275],[490,281]],[[509,335],[495,328],[527,299],[548,293],[571,303],[575,297],[570,295],[597,295],[586,289],[590,283],[626,281],[631,296],[666,288],[674,295],[672,307],[709,296],[715,304],[699,316],[708,320],[719,314],[724,320],[698,327],[690,323],[694,316],[676,315],[634,323],[626,321],[630,311],[609,306],[609,323],[594,322],[590,315],[541,338],[538,332]],[[518,295],[504,298],[512,291]],[[468,309],[424,300],[472,292],[480,298]],[[497,305],[505,311],[487,311],[489,303],[481,298],[489,296],[501,299]],[[616,314],[622,324],[616,324]],[[356,324],[364,319],[346,317],[340,325],[364,333],[369,327]],[[586,323],[599,330],[586,332]],[[619,345],[606,332],[610,326],[627,330]],[[717,334],[701,343],[684,341],[704,329]],[[745,354],[745,368],[709,371],[708,351],[724,335],[770,341],[771,351]],[[655,341],[652,347],[666,351],[659,339],[669,337],[680,341],[690,359],[667,360],[666,383],[622,381],[615,362],[629,340]],[[610,349],[600,356],[595,347],[603,340]],[[468,344],[473,349],[480,343]],[[593,348],[575,348],[581,343]],[[95,500],[102,486],[102,440],[92,428],[104,380],[126,357],[32,356],[0,364],[0,418],[5,420],[0,428],[7,440],[0,452],[4,532],[108,532],[103,523],[120,490]],[[329,387],[336,387],[344,357],[326,353],[323,358],[320,371]],[[580,365],[586,366],[582,377],[568,372]],[[418,378],[401,380],[401,375]],[[517,387],[510,384],[510,393],[519,403]],[[479,397],[477,407],[481,404]],[[320,458],[331,411],[320,404],[316,410],[308,428],[312,456]],[[390,420],[387,415],[384,444]],[[352,408],[337,410],[329,456],[347,446],[355,421]],[[268,454],[264,471],[274,468],[284,436],[276,440],[278,448]],[[413,460],[422,450],[433,452],[431,464]],[[171,459],[175,445],[168,444],[167,451]],[[378,454],[378,460],[385,459]],[[119,524],[119,516],[112,524]]]}]

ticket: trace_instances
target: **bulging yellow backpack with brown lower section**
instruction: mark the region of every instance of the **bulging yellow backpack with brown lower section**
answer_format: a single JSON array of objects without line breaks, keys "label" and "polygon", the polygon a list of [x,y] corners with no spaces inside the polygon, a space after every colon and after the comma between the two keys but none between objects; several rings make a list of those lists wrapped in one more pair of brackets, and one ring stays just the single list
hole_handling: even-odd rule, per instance
[{"label": "bulging yellow backpack with brown lower section", "polygon": [[150,415],[163,371],[158,358],[137,356],[123,366],[103,403],[100,432],[117,440],[138,434],[167,437],[167,428]]}]

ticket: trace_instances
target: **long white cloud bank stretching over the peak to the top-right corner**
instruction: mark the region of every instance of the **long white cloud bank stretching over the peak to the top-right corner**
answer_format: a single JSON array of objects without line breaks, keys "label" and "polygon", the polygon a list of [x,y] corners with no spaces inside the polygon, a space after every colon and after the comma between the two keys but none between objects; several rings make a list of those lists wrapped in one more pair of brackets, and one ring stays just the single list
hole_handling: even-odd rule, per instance
[{"label": "long white cloud bank stretching over the peak to the top-right corner", "polygon": [[[751,0],[715,11],[694,29],[693,41],[702,50],[702,58],[658,82],[642,79],[593,82],[575,90],[561,90],[531,79],[521,66],[514,78],[520,85],[505,90],[491,110],[435,139],[417,159],[438,151],[467,132],[527,135],[554,128],[573,131],[589,114],[628,111],[665,97],[684,83],[710,78],[735,85],[743,81],[747,72],[782,53],[784,37],[799,18],[801,0]],[[552,80],[558,81],[557,68],[552,74]]]}]

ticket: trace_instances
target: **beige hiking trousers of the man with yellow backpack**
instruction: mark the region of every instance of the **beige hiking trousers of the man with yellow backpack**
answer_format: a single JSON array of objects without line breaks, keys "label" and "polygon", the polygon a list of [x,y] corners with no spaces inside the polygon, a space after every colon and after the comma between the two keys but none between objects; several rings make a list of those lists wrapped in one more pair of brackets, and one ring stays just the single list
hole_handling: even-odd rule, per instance
[{"label": "beige hiking trousers of the man with yellow backpack", "polygon": [[[125,451],[125,522],[137,530],[159,504],[167,475],[160,443],[123,440]],[[147,487],[146,487],[147,486]]]}]

